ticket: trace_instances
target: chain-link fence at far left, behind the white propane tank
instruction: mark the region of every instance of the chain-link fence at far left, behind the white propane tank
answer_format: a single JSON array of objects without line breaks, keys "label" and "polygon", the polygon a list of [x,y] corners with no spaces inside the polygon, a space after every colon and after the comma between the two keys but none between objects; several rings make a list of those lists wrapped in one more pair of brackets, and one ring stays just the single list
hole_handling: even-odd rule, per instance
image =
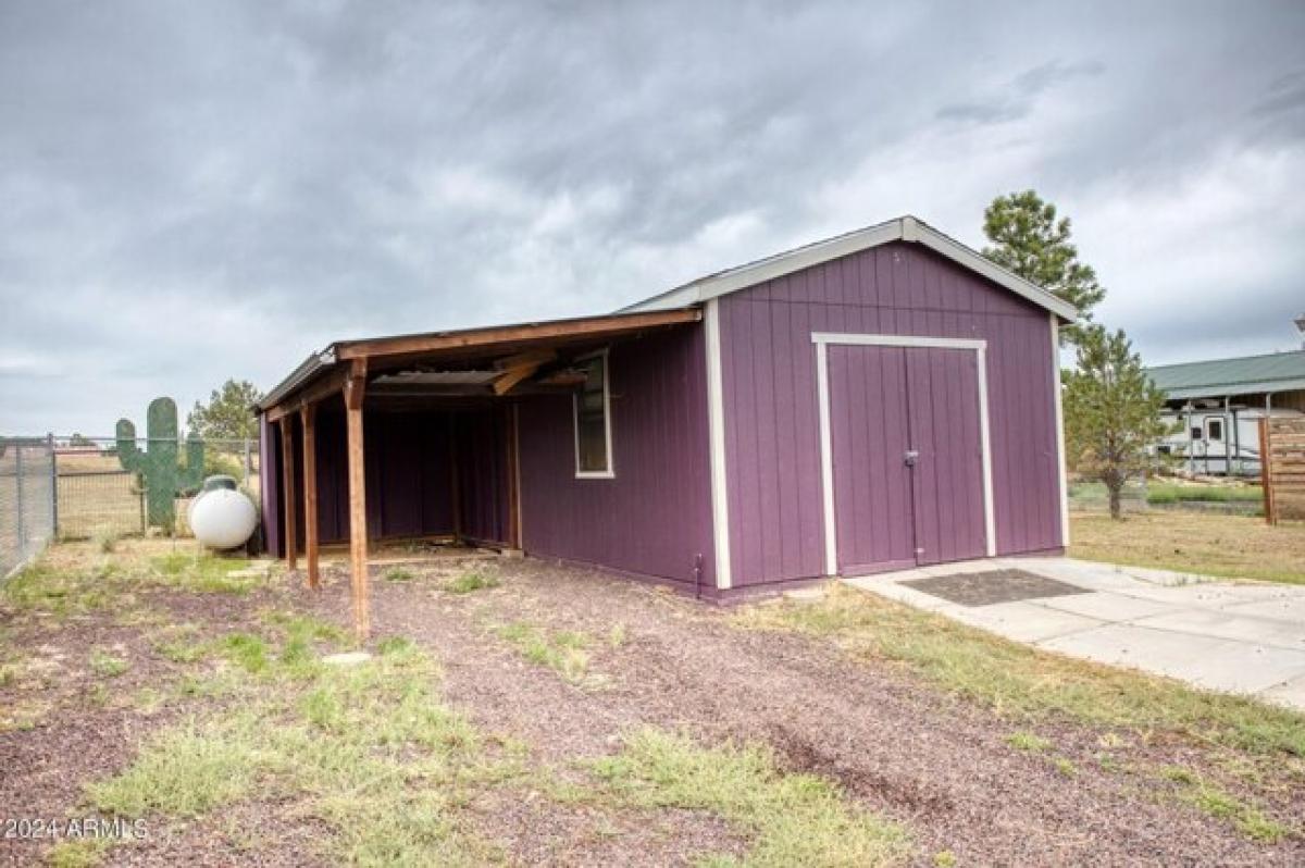
[{"label": "chain-link fence at far left, behind the white propane tank", "polygon": [[[188,536],[187,506],[213,475],[232,476],[254,504],[261,503],[257,440],[197,444],[81,435],[0,437],[0,578],[51,539]],[[193,457],[202,467],[191,467]],[[171,492],[151,499],[151,484]]]}]

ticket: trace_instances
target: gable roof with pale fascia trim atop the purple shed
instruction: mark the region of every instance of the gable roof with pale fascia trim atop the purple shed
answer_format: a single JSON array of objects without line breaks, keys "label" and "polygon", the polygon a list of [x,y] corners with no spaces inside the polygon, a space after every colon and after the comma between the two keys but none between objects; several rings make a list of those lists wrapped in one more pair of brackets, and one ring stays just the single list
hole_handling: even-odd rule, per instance
[{"label": "gable roof with pale fascia trim atop the purple shed", "polygon": [[923,244],[930,251],[945,256],[976,274],[981,274],[993,283],[1002,286],[1015,295],[1024,298],[1037,307],[1045,308],[1061,317],[1066,322],[1078,318],[1078,311],[1064,299],[1052,295],[1043,287],[1026,281],[1013,271],[1007,271],[996,262],[988,260],[977,251],[974,251],[949,235],[944,235],[924,221],[910,214],[897,219],[867,226],[846,235],[816,241],[804,247],[797,247],[783,253],[775,253],[746,265],[739,265],[724,271],[716,271],[698,278],[684,286],[677,286],[659,295],[636,302],[621,312],[629,311],[664,311],[668,308],[684,307],[686,304],[701,304],[710,299],[720,298],[731,292],[745,290],[758,283],[792,274],[821,262],[829,262],[843,256],[868,251],[874,247],[890,244],[893,241],[907,241]]}]

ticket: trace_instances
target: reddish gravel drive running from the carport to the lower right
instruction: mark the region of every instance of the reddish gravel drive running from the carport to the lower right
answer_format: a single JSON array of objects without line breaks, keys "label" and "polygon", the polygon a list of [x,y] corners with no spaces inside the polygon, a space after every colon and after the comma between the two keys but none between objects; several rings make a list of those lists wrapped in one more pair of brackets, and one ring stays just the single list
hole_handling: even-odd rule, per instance
[{"label": "reddish gravel drive running from the carport to the lower right", "polygon": [[[1078,767],[1066,778],[1006,743],[1018,726],[895,668],[850,660],[829,642],[740,630],[727,611],[599,572],[506,561],[501,574],[501,587],[462,598],[392,585],[375,597],[373,627],[435,649],[454,704],[545,758],[609,753],[641,724],[765,740],[790,767],[834,777],[908,824],[921,864],[945,850],[983,865],[1305,861],[1298,839],[1249,842],[1129,775],[1099,770],[1100,734],[1087,728],[1053,732],[1057,752]],[[343,603],[328,594],[318,604],[343,616]],[[510,621],[596,637],[590,668],[609,685],[579,689],[523,662],[489,629]],[[613,625],[625,641],[603,646]],[[1176,745],[1171,761],[1181,754]]]}]

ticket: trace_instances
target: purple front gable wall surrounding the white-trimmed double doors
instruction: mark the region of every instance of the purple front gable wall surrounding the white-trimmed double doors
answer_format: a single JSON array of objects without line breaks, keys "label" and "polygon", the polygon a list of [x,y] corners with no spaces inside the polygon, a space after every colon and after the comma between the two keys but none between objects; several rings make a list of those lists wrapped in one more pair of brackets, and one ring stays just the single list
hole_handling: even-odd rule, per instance
[{"label": "purple front gable wall surrounding the white-trimmed double doors", "polygon": [[1061,546],[1047,311],[903,243],[719,304],[736,587],[825,572],[813,332],[987,339],[997,551]]}]

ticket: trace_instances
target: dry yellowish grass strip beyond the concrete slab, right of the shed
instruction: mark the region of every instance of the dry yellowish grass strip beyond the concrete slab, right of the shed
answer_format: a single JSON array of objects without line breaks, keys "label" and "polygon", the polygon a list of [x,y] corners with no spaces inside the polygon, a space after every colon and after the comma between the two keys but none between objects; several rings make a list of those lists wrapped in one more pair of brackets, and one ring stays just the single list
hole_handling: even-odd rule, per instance
[{"label": "dry yellowish grass strip beyond the concrete slab, right of the shed", "polygon": [[1305,525],[1182,512],[1074,516],[1070,555],[1129,566],[1305,583]]}]

